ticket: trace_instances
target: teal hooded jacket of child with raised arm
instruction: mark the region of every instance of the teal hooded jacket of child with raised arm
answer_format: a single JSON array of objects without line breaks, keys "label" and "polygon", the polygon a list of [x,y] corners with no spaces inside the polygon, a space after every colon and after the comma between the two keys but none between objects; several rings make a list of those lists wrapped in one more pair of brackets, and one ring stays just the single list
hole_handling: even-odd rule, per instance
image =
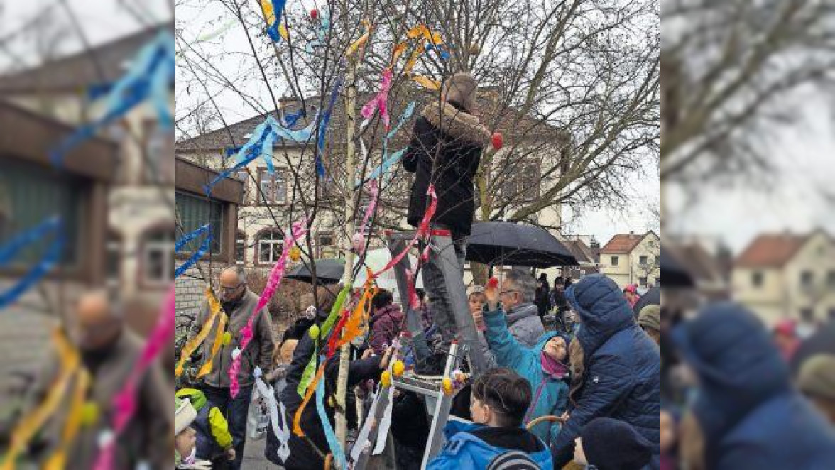
[{"label": "teal hooded jacket of child with raised arm", "polygon": [[[542,370],[542,360],[539,357],[546,342],[554,336],[562,335],[549,331],[539,337],[534,347],[527,347],[520,344],[510,334],[501,306],[497,311],[487,311],[486,308],[484,310],[484,323],[487,324],[486,337],[490,351],[493,351],[496,366],[510,367],[530,382],[533,396],[524,423],[527,424],[534,417],[562,415],[568,406],[569,385],[564,380],[568,376],[566,374],[565,377],[546,377]],[[569,339],[562,337],[565,340],[565,346],[568,346]],[[559,427],[559,423],[540,422],[531,429],[531,432],[544,442],[551,442],[559,434]]]}]

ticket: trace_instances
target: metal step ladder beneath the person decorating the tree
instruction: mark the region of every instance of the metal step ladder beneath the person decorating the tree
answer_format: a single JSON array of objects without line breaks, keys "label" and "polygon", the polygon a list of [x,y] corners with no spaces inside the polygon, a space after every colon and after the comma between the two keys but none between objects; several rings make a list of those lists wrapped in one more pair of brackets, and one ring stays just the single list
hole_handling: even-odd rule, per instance
[{"label": "metal step ladder beneath the person decorating the tree", "polygon": [[[406,249],[407,240],[412,240],[414,232],[392,233],[387,232],[388,249],[392,257]],[[443,273],[444,284],[448,292],[449,301],[453,306],[455,325],[458,328],[458,338],[453,341],[449,348],[443,376],[437,378],[426,378],[405,373],[401,377],[392,376],[392,386],[382,388],[374,408],[369,410],[369,421],[374,419],[379,423],[389,400],[392,399],[393,388],[400,388],[415,392],[424,397],[427,412],[432,417],[432,424],[429,427],[429,437],[426,450],[423,452],[421,468],[425,468],[430,460],[440,452],[443,442],[443,427],[449,419],[449,410],[452,407],[453,395],[443,392],[443,377],[450,377],[455,369],[461,366],[463,357],[468,357],[470,371],[473,376],[485,370],[486,362],[478,342],[478,331],[470,315],[467,301],[466,287],[463,283],[463,276],[455,256],[452,238],[443,231],[435,231],[430,237],[430,257],[438,261]],[[427,338],[423,334],[423,325],[420,314],[409,306],[407,288],[407,270],[411,270],[409,257],[403,256],[402,260],[394,266],[394,273],[397,278],[397,291],[402,301],[403,311],[406,312],[406,327],[412,337],[412,351],[416,363],[430,355]],[[367,430],[368,442],[376,442],[377,426]],[[383,437],[385,438],[385,437]],[[354,463],[355,470],[364,470],[368,458],[371,456],[371,448],[363,449],[357,461]]]}]

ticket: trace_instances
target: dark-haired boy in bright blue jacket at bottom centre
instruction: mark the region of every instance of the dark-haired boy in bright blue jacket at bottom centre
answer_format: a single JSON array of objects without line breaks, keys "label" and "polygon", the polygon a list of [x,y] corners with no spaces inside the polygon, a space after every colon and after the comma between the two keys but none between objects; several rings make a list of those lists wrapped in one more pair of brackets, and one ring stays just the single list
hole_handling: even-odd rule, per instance
[{"label": "dark-haired boy in bright blue jacket at bottom centre", "polygon": [[530,397],[530,384],[515,371],[485,371],[473,382],[473,423],[449,421],[443,429],[447,443],[427,469],[552,468],[548,446],[522,426]]}]

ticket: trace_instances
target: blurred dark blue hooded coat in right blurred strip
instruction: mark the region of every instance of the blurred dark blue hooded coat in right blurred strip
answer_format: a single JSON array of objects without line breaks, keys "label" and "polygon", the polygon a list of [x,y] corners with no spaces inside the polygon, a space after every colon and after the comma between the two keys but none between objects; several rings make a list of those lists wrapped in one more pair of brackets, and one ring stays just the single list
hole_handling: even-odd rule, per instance
[{"label": "blurred dark blue hooded coat in right blurred strip", "polygon": [[693,412],[708,468],[835,468],[835,431],[792,387],[756,316],[730,302],[708,306],[673,341],[699,377]]}]

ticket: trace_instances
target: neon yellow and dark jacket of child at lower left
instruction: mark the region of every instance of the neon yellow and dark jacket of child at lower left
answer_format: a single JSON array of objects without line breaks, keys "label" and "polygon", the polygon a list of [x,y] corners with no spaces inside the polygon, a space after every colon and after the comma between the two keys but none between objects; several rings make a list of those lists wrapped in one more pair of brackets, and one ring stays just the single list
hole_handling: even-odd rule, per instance
[{"label": "neon yellow and dark jacket of child at lower left", "polygon": [[191,423],[197,431],[197,458],[211,460],[232,447],[229,423],[220,408],[210,402],[205,393],[196,388],[181,388],[175,397],[188,398],[197,410],[197,417]]}]

